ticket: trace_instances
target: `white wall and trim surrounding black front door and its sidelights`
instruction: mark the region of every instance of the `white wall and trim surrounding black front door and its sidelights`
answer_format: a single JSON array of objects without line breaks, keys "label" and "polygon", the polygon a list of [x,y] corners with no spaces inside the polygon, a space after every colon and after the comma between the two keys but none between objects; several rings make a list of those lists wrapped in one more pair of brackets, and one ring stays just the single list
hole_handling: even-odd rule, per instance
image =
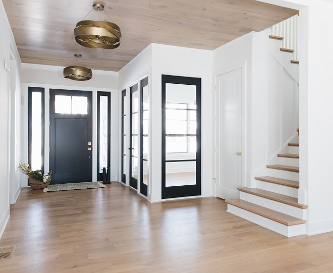
[{"label": "white wall and trim surrounding black front door and its sidelights", "polygon": [[[24,113],[22,123],[22,161],[28,161],[28,88],[42,87],[45,94],[45,124],[49,122],[49,89],[69,89],[92,92],[92,181],[96,181],[97,175],[97,91],[111,93],[111,134],[110,134],[110,180],[118,180],[118,73],[110,71],[93,70],[93,77],[88,81],[74,81],[65,79],[63,67],[22,64],[22,81],[24,82],[24,103],[22,103],[22,113]],[[45,172],[49,170],[49,127],[45,126],[44,139],[44,160]],[[26,177],[22,186],[27,187]]]}]

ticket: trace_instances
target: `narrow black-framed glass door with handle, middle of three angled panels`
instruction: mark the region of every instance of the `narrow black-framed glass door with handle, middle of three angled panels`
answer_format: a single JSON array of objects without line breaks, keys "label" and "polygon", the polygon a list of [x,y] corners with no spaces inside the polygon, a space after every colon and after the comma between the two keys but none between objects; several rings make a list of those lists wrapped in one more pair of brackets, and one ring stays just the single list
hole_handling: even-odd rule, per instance
[{"label": "narrow black-framed glass door with handle, middle of three angled panels", "polygon": [[139,154],[138,154],[138,136],[139,136],[139,92],[138,84],[130,87],[130,186],[138,189],[139,173]]}]

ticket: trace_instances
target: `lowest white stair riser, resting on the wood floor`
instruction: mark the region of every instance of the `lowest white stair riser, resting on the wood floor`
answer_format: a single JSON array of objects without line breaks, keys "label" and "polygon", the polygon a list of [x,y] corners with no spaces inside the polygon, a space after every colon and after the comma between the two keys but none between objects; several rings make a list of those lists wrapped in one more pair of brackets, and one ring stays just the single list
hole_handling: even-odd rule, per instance
[{"label": "lowest white stair riser, resting on the wood floor", "polygon": [[245,209],[228,204],[228,212],[233,213],[243,219],[246,219],[252,223],[260,225],[266,229],[280,233],[287,237],[299,236],[305,234],[305,224],[295,226],[285,226],[278,222],[272,221],[258,214],[252,213]]}]

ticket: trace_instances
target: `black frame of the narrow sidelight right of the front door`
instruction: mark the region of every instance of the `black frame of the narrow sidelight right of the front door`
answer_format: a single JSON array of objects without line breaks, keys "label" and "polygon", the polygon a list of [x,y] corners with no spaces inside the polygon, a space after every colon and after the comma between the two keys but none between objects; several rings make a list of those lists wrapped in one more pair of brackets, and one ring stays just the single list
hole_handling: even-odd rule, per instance
[{"label": "black frame of the narrow sidelight right of the front door", "polygon": [[99,170],[99,126],[100,126],[100,97],[107,97],[107,168],[110,168],[110,136],[111,136],[111,93],[97,91],[97,181],[103,180],[103,173]]}]

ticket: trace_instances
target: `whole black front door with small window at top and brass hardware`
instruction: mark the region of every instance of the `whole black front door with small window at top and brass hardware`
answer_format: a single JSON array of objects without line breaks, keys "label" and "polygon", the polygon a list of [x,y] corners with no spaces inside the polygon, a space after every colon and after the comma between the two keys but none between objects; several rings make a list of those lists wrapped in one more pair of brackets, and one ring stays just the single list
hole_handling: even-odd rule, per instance
[{"label": "whole black front door with small window at top and brass hardware", "polygon": [[92,92],[50,89],[51,184],[92,181]]}]

